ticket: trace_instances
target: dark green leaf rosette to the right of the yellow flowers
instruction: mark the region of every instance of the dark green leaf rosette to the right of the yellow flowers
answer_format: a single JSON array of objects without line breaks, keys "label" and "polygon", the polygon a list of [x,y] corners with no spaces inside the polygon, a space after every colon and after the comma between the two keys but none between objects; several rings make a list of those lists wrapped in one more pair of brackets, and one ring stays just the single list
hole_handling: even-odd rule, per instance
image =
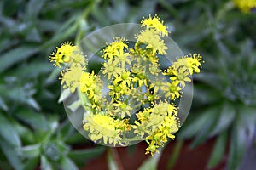
[{"label": "dark green leaf rosette to the right of the yellow flowers", "polygon": [[[256,123],[256,51],[250,41],[236,54],[206,59],[205,69],[195,77],[194,112],[179,133],[194,137],[192,147],[216,135],[208,167],[215,167],[229,150],[228,169],[240,166]],[[193,112],[192,111],[192,112]]]}]

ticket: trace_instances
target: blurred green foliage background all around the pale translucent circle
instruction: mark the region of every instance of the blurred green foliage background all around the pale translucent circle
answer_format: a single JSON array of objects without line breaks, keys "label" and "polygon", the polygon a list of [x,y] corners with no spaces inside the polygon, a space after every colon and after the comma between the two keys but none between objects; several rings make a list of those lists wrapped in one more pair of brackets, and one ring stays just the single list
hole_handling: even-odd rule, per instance
[{"label": "blurred green foliage background all around the pale translucent circle", "polygon": [[[0,169],[86,169],[99,158],[106,160],[99,161],[102,167],[121,168],[116,150],[84,139],[67,120],[58,103],[60,70],[49,54],[61,42],[77,43],[98,28],[139,23],[148,14],[165,20],[184,54],[201,54],[205,63],[194,77],[189,117],[175,144],[168,144],[172,153],[166,157],[164,148],[132,168],[160,168],[163,159],[161,168],[175,168],[187,141],[193,150],[211,140],[205,167],[197,169],[220,162],[230,170],[250,169],[256,161],[256,14],[228,0],[2,0]],[[128,149],[131,156],[138,145]]]}]

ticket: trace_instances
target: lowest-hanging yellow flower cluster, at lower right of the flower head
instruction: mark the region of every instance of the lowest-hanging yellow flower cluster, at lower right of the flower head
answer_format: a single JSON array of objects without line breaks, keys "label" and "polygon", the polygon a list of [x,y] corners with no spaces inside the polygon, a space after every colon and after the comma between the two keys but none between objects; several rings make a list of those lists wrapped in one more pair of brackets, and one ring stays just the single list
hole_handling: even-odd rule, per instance
[{"label": "lowest-hanging yellow flower cluster, at lower right of the flower head", "polygon": [[174,139],[173,133],[178,130],[177,108],[167,102],[155,104],[153,108],[147,108],[137,113],[138,121],[132,126],[135,133],[147,136],[148,148],[146,154],[157,152],[157,148],[163,146],[168,138]]}]

